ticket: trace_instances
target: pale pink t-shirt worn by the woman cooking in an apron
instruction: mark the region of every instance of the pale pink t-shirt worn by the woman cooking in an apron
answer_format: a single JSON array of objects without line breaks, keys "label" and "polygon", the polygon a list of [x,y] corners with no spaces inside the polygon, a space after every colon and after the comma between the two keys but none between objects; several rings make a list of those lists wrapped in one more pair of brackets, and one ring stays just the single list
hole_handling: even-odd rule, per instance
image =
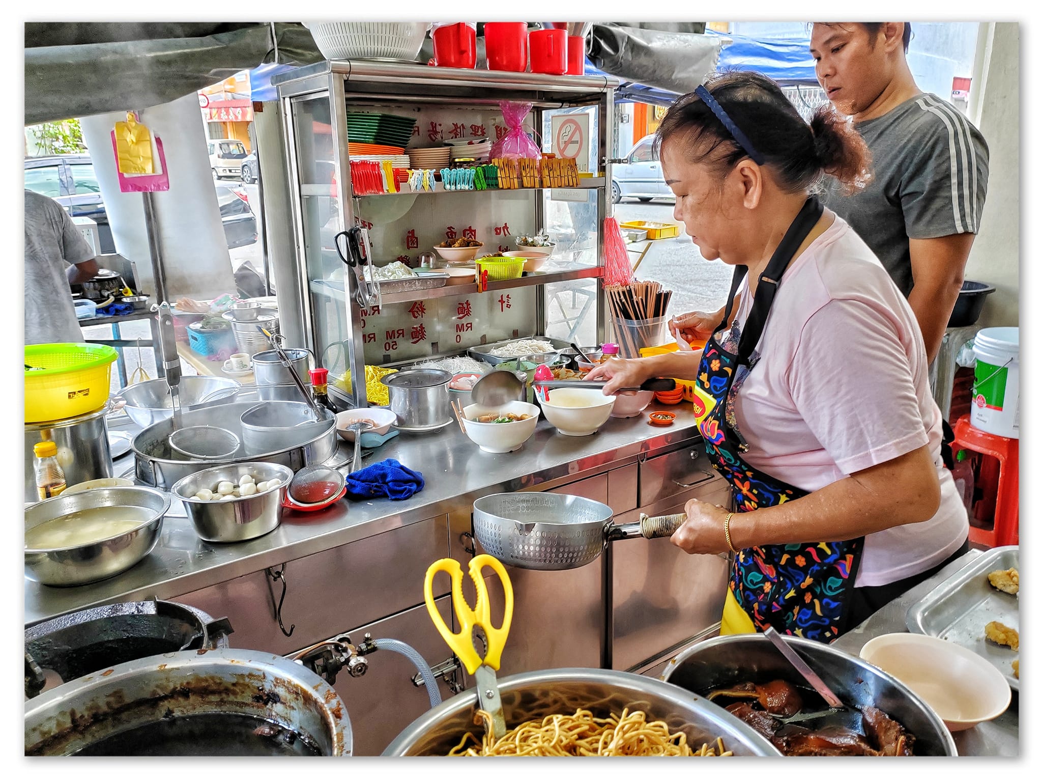
[{"label": "pale pink t-shirt worn by the woman cooking in an apron", "polygon": [[[747,280],[738,322],[752,297]],[[908,301],[840,218],[786,270],[735,400],[753,467],[805,491],[929,445],[941,506],[928,521],[869,535],[857,586],[880,586],[940,564],[969,520],[941,460],[941,411]]]}]

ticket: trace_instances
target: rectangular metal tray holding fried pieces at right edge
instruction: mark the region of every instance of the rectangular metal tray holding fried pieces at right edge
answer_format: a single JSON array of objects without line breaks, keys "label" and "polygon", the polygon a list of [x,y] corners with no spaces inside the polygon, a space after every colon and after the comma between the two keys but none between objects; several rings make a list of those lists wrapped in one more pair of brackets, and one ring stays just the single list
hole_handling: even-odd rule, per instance
[{"label": "rectangular metal tray holding fried pieces at right edge", "polygon": [[975,652],[998,668],[1010,687],[1019,691],[1020,680],[1013,676],[1012,663],[1020,657],[1009,646],[999,646],[984,637],[989,621],[1020,630],[1018,595],[1000,592],[988,583],[992,570],[1020,569],[1020,546],[992,548],[942,582],[909,609],[905,624],[913,633],[922,633],[958,643]]}]

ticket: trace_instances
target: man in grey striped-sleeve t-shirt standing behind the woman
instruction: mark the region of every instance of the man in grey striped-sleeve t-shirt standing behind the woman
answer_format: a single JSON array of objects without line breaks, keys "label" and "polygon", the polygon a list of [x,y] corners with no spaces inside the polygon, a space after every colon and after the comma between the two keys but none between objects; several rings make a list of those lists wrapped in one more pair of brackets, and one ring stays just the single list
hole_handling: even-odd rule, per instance
[{"label": "man in grey striped-sleeve t-shirt standing behind the woman", "polygon": [[988,192],[988,145],[950,103],[923,93],[905,54],[907,22],[816,22],[818,81],[853,118],[872,180],[822,198],[872,248],[915,312],[933,362],[963,284]]}]

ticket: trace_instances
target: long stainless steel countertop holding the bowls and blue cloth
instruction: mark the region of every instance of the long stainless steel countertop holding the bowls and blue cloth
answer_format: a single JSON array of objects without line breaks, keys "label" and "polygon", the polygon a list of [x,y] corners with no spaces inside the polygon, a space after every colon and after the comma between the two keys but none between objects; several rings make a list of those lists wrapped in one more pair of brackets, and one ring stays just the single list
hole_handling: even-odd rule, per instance
[{"label": "long stainless steel countertop holding the bowls and blue cloth", "polygon": [[[649,410],[655,409],[655,406]],[[697,438],[688,405],[663,408],[676,423],[659,429],[645,415],[610,419],[591,437],[557,434],[545,419],[520,451],[480,451],[453,421],[435,434],[401,433],[375,451],[370,462],[396,459],[423,473],[423,491],[403,502],[341,502],[318,513],[287,511],[273,533],[244,543],[214,544],[200,540],[188,519],[168,517],[156,548],[143,562],[107,581],[82,587],[55,588],[25,581],[25,624],[117,601],[170,598],[256,572],[266,567],[362,540],[389,530],[458,510],[467,495],[553,488],[634,463],[638,458],[675,448]],[[132,457],[117,463],[116,474],[132,466]],[[181,513],[175,500],[171,513]]]}]

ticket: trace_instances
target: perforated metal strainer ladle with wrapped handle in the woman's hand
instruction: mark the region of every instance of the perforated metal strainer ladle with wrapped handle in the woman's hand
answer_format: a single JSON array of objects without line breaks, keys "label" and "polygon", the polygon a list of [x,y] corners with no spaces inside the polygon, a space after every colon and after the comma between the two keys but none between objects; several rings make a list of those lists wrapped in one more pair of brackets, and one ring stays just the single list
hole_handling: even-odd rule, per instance
[{"label": "perforated metal strainer ladle with wrapped handle in the woman's hand", "polygon": [[612,540],[668,538],[687,517],[641,514],[638,521],[615,524],[614,515],[603,503],[569,494],[490,494],[474,503],[474,538],[504,564],[570,570],[593,562]]}]

